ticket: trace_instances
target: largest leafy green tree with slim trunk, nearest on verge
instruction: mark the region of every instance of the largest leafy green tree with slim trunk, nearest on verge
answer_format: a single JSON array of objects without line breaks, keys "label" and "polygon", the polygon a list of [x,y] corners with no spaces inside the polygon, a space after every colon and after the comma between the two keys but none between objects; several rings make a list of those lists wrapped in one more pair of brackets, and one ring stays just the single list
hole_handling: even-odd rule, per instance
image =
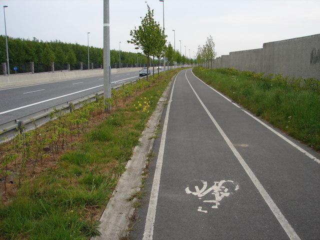
[{"label": "largest leafy green tree with slim trunk, nearest on verge", "polygon": [[[150,10],[148,4],[147,13],[141,20],[141,25],[138,26],[138,28],[134,27],[133,30],[130,30],[130,36],[132,38],[127,42],[136,45],[136,49],[140,48],[147,59],[149,59],[150,56],[158,54],[161,47],[163,51],[163,45],[161,43],[164,42],[165,44],[165,35],[160,29],[160,24],[156,23],[153,19],[153,9]],[[149,61],[147,61],[147,72],[148,69]],[[148,75],[146,75],[146,78],[148,78]]]}]

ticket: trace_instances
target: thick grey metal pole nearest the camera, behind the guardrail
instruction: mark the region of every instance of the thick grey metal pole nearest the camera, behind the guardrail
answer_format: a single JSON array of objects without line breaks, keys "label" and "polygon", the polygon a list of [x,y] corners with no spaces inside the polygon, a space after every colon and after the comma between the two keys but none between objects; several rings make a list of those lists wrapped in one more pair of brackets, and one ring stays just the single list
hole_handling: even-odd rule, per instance
[{"label": "thick grey metal pole nearest the camera, behind the guardrail", "polygon": [[111,98],[111,74],[110,74],[110,14],[109,0],[103,0],[103,99],[104,104],[108,103],[107,109],[111,109],[111,104],[106,99]]}]

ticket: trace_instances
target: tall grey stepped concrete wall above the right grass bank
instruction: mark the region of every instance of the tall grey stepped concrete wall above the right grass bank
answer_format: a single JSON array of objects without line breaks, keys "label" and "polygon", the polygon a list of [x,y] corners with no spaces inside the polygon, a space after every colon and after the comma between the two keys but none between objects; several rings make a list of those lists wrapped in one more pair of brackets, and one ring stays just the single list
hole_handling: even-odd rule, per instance
[{"label": "tall grey stepped concrete wall above the right grass bank", "polygon": [[258,49],[233,51],[214,59],[212,67],[320,79],[320,34],[267,42]]}]

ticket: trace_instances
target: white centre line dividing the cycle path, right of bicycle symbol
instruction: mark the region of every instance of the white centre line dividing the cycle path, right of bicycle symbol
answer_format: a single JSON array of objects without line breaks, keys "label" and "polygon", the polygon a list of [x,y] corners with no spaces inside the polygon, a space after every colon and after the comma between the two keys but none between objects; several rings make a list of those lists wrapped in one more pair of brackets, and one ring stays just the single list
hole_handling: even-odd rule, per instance
[{"label": "white centre line dividing the cycle path, right of bicycle symbol", "polygon": [[274,201],[272,200],[270,195],[267,193],[267,191],[264,189],[264,187],[262,186],[262,184],[260,183],[258,178],[255,176],[255,174],[250,169],[250,167],[246,164],[246,162],[244,161],[244,159],[242,158],[240,153],[236,150],[236,148],[234,147],[234,145],[232,144],[230,139],[226,136],[226,134],[224,133],[224,131],[222,130],[220,125],[217,123],[217,121],[211,115],[210,111],[206,108],[206,106],[204,105],[204,103],[202,102],[202,100],[200,99],[198,94],[195,92],[194,88],[192,87],[191,83],[189,82],[188,78],[186,77],[186,71],[185,71],[185,78],[186,78],[187,82],[189,83],[196,98],[199,100],[200,104],[202,105],[203,109],[206,111],[207,115],[210,117],[211,121],[213,122],[215,127],[218,129],[218,131],[222,135],[223,139],[225,140],[225,142],[227,143],[227,145],[229,146],[229,148],[233,152],[234,156],[238,159],[238,161],[242,165],[246,174],[250,177],[251,181],[253,182],[253,184],[255,185],[257,190],[260,192],[264,201],[269,206],[270,210],[272,211],[272,213],[274,214],[274,216],[276,217],[276,219],[278,220],[278,222],[280,223],[280,225],[282,226],[282,228],[284,229],[284,231],[286,232],[288,237],[291,240],[300,240],[300,237],[296,234],[294,229],[291,227],[290,223],[286,220],[286,218],[284,217],[284,215],[282,214],[280,209],[277,207],[277,205],[274,203]]}]

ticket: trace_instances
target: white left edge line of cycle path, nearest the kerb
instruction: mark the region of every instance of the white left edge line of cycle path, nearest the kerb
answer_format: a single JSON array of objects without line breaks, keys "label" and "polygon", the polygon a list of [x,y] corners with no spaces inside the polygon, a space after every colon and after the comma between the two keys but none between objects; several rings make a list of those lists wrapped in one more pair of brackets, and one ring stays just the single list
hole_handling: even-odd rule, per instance
[{"label": "white left edge line of cycle path, nearest the kerb", "polygon": [[166,108],[163,129],[162,129],[162,134],[161,134],[160,148],[159,148],[158,157],[156,159],[155,172],[154,172],[154,177],[153,177],[153,183],[152,183],[148,211],[146,213],[146,219],[145,219],[142,240],[152,240],[152,237],[153,237],[153,227],[154,227],[156,205],[157,205],[157,201],[158,201],[158,193],[159,193],[159,185],[160,185],[160,177],[161,177],[161,169],[162,169],[162,161],[163,161],[163,153],[164,153],[165,137],[166,137],[166,128],[168,125],[169,111],[170,111],[170,105],[171,105],[171,101],[172,101],[172,94],[173,94],[175,79],[178,76],[178,74],[174,78],[174,82],[173,82],[173,85],[171,88],[170,98],[169,98],[168,105]]}]

